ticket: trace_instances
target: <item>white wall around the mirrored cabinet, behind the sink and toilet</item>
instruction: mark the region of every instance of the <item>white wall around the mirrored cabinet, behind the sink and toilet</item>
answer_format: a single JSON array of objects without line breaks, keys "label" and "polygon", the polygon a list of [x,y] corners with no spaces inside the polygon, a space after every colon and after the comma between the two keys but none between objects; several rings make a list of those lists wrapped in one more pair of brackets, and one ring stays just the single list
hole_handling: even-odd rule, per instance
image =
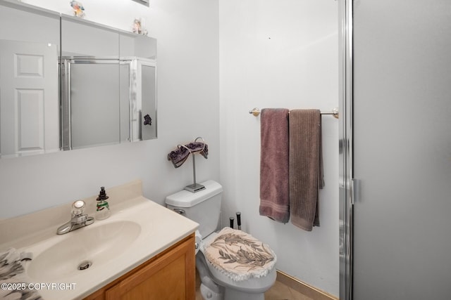
[{"label": "white wall around the mirrored cabinet, behind the sink and toilet", "polygon": [[[70,13],[69,1],[23,2]],[[218,2],[151,2],[150,8],[131,0],[82,4],[87,20],[123,30],[130,30],[135,17],[145,18],[149,35],[158,39],[159,138],[0,159],[0,219],[96,195],[101,185],[135,178],[142,179],[146,197],[163,204],[166,195],[192,183],[191,159],[174,169],[166,155],[197,136],[210,150],[208,159],[196,159],[197,180],[219,179]]]}]

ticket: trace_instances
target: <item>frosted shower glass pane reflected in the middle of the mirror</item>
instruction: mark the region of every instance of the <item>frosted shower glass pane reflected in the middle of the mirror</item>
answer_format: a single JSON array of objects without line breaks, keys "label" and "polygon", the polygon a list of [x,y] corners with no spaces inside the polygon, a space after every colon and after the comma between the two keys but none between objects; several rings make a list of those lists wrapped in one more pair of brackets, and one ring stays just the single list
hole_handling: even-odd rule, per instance
[{"label": "frosted shower glass pane reflected in the middle of the mirror", "polygon": [[[70,67],[70,148],[121,142],[118,63],[73,63]],[[108,89],[105,89],[108,86]],[[127,131],[127,130],[125,130]]]}]

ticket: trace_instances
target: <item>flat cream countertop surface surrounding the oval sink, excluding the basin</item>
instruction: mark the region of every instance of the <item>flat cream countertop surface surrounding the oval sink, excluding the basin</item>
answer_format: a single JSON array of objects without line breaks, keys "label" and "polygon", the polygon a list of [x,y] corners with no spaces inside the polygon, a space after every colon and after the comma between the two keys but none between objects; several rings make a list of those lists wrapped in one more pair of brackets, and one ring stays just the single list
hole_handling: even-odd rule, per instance
[{"label": "flat cream countertop surface surrounding the oval sink, excluding the basin", "polygon": [[[140,266],[141,263],[151,259],[164,249],[183,240],[183,238],[194,233],[199,226],[194,221],[180,216],[141,195],[114,206],[111,209],[109,219],[96,220],[92,225],[65,235],[56,235],[56,231],[54,231],[56,227],[51,228],[51,231],[54,232],[51,235],[41,233],[28,238],[21,238],[17,240],[17,243],[11,240],[8,241],[7,245],[4,244],[3,247],[0,244],[0,249],[4,249],[6,246],[14,247],[18,252],[32,252],[33,259],[36,259],[46,249],[70,238],[70,235],[76,235],[79,230],[81,232],[81,230],[89,230],[96,226],[102,226],[102,224],[117,221],[135,222],[140,225],[141,230],[130,246],[126,247],[121,254],[118,254],[111,263],[96,265],[95,261],[93,261],[92,266],[86,270],[77,270],[77,272],[61,278],[56,276],[58,279],[51,280],[51,282],[42,278],[33,278],[30,274],[27,274],[30,278],[29,283],[38,284],[36,287],[40,287],[41,285],[39,284],[41,283],[54,284],[53,288],[47,289],[44,287],[38,291],[44,300],[83,299],[85,296],[109,284],[109,282],[121,277],[129,270]],[[40,238],[37,239],[37,237]],[[25,270],[29,268],[30,263],[32,261],[25,263]],[[49,261],[49,263],[52,262]],[[66,287],[66,289],[55,288],[56,286]]]}]

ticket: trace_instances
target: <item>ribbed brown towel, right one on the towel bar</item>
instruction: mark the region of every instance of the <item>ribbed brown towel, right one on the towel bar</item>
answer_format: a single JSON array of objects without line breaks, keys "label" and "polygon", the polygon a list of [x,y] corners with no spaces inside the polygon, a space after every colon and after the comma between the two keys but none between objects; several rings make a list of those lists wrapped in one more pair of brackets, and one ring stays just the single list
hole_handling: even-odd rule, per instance
[{"label": "ribbed brown towel, right one on the towel bar", "polygon": [[321,112],[290,111],[291,223],[307,231],[319,226],[318,190],[323,188]]}]

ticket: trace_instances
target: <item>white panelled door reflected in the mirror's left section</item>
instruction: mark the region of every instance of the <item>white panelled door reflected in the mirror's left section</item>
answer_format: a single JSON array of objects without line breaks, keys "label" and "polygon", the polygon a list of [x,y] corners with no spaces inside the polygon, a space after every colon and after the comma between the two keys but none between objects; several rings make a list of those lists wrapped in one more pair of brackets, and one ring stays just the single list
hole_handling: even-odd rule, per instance
[{"label": "white panelled door reflected in the mirror's left section", "polygon": [[2,157],[59,150],[57,61],[55,44],[0,40]]}]

